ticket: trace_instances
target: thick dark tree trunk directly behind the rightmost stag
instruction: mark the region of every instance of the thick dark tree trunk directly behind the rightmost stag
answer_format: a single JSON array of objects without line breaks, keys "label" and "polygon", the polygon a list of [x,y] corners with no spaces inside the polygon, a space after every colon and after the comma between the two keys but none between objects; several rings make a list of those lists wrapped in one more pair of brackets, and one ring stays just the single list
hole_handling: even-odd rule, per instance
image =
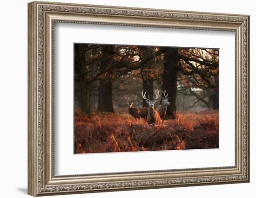
[{"label": "thick dark tree trunk directly behind the rightmost stag", "polygon": [[167,117],[175,119],[176,112],[176,95],[177,95],[177,73],[178,73],[178,48],[165,50],[164,68],[162,76],[162,89],[166,90],[169,97],[170,105],[167,106]]}]

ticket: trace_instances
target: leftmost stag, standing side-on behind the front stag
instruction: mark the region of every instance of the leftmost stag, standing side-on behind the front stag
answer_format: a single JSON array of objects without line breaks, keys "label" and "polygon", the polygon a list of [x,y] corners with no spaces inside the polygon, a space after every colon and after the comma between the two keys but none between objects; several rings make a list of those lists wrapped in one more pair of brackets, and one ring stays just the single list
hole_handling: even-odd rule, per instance
[{"label": "leftmost stag, standing side-on behind the front stag", "polygon": [[124,95],[124,98],[128,104],[128,112],[130,115],[132,115],[134,118],[147,118],[148,115],[148,108],[147,107],[143,107],[143,108],[134,108],[133,107],[133,103],[135,102],[135,100],[137,99],[137,96],[134,97],[134,101],[131,102],[130,98]]}]

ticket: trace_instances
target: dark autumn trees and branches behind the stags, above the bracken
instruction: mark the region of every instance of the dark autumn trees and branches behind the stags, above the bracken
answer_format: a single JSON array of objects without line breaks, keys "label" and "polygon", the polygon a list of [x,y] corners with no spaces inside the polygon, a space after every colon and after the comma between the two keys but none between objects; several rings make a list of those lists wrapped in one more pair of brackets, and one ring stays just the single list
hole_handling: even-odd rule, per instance
[{"label": "dark autumn trees and branches behind the stags, above the bracken", "polygon": [[151,98],[154,89],[167,91],[168,118],[175,118],[177,94],[195,98],[189,108],[218,109],[218,74],[218,49],[74,44],[75,104],[86,114],[126,107],[125,94],[146,107],[143,89]]}]

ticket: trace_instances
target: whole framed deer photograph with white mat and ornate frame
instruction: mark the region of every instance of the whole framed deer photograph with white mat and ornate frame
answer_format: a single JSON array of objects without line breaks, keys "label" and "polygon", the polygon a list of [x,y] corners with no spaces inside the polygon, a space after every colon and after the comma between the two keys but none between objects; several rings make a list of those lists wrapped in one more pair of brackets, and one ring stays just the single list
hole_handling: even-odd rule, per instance
[{"label": "whole framed deer photograph with white mat and ornate frame", "polygon": [[249,16],[28,4],[28,194],[249,182]]}]

